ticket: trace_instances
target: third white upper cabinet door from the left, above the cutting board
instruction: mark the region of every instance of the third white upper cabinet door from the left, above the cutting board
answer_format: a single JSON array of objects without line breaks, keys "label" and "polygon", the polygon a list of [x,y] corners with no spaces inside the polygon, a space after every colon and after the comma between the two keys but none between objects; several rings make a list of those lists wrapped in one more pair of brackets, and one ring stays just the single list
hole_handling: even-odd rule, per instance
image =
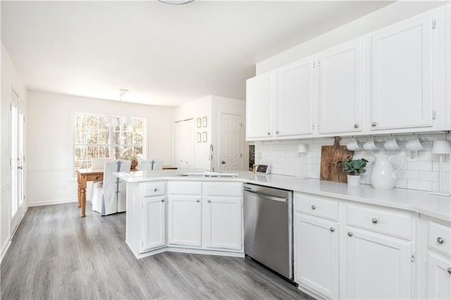
[{"label": "third white upper cabinet door from the left, above the cutting board", "polygon": [[362,130],[362,39],[319,56],[319,133]]}]

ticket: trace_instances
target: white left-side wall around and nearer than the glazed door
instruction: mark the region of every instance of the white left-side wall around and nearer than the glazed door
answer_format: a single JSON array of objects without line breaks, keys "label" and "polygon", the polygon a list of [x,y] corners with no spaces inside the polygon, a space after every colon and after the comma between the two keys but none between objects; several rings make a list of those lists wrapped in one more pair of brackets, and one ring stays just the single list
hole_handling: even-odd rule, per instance
[{"label": "white left-side wall around and nearer than the glazed door", "polygon": [[[11,89],[18,94],[22,106],[27,103],[27,89],[14,66],[8,50],[1,44],[1,103],[0,103],[0,258],[3,258],[6,247],[11,239]],[[26,151],[25,151],[26,155]]]}]

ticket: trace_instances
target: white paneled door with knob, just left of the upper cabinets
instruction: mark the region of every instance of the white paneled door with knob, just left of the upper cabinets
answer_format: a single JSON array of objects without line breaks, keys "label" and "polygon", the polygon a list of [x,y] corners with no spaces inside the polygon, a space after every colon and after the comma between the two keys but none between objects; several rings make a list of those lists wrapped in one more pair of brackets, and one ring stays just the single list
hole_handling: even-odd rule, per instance
[{"label": "white paneled door with knob, just left of the upper cabinets", "polygon": [[219,125],[219,170],[242,169],[241,115],[221,113]]}]

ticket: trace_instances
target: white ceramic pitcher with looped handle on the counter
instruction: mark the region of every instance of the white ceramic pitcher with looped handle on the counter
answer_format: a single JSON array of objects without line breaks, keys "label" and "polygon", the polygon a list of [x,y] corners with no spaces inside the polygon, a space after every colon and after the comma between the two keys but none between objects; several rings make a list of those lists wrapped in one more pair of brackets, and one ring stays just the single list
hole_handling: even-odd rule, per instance
[{"label": "white ceramic pitcher with looped handle on the counter", "polygon": [[[401,170],[405,163],[402,156],[385,156],[384,154],[373,154],[376,159],[371,171],[371,185],[375,189],[393,189],[396,184],[396,173]],[[400,159],[402,164],[400,168],[393,168],[392,161]]]}]

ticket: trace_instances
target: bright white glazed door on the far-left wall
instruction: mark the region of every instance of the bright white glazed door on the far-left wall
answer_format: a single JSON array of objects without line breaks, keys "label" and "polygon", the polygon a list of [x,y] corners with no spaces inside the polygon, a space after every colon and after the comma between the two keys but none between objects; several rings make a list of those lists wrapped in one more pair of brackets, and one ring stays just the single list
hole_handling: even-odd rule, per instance
[{"label": "bright white glazed door on the far-left wall", "polygon": [[11,232],[16,230],[25,208],[25,115],[19,104],[18,94],[11,89]]}]

